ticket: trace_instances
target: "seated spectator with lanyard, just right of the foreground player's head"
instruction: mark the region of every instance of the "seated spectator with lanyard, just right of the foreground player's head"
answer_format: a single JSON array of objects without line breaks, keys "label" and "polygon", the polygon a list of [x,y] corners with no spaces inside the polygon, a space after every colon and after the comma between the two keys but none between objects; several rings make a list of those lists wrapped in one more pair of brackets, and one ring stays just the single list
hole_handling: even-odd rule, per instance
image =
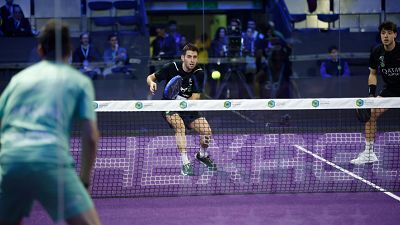
[{"label": "seated spectator with lanyard, just right of the foreground player's head", "polygon": [[72,62],[79,63],[79,70],[90,78],[95,79],[101,72],[92,63],[101,61],[100,53],[91,45],[88,32],[82,33],[79,39],[81,45],[75,49],[72,55]]}]

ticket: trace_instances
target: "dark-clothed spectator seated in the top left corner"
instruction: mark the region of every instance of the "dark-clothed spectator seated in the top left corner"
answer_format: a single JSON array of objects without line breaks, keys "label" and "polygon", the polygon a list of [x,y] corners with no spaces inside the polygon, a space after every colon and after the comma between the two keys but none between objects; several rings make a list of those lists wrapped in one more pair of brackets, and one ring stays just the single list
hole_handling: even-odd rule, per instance
[{"label": "dark-clothed spectator seated in the top left corner", "polygon": [[31,24],[19,5],[13,6],[12,18],[4,24],[4,34],[9,37],[29,37],[32,36]]}]

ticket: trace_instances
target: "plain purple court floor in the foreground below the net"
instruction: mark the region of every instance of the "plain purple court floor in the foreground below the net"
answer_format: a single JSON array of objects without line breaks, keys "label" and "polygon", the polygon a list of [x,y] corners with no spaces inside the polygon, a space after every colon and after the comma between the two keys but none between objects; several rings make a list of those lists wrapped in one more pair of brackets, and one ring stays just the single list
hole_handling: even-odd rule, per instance
[{"label": "plain purple court floor in the foreground below the net", "polygon": [[[397,193],[398,194],[398,193]],[[379,192],[95,199],[104,225],[398,225],[400,202]],[[26,225],[52,224],[39,205]]]}]

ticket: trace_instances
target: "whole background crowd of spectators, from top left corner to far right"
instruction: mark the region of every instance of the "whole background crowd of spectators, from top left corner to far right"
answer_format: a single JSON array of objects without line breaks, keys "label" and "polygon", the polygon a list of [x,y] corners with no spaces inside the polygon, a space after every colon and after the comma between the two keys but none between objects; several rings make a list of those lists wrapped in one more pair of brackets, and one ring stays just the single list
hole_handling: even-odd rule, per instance
[{"label": "whole background crowd of spectators, from top left corner to far right", "polygon": [[[0,36],[35,36],[29,20],[13,0],[5,0],[0,11]],[[232,18],[226,26],[218,27],[213,32],[214,37],[203,33],[190,40],[189,34],[181,33],[176,21],[157,24],[154,26],[154,39],[150,43],[151,60],[177,59],[187,43],[194,43],[199,48],[199,63],[207,74],[206,94],[211,98],[290,98],[290,77],[293,75],[289,60],[291,46],[275,29],[273,22],[258,25],[252,18],[246,21]],[[124,46],[119,46],[118,35],[109,35],[107,41],[109,46],[101,53],[91,42],[90,33],[83,32],[71,63],[92,79],[117,73],[134,77],[129,66],[128,51]],[[330,57],[319,63],[321,77],[349,76],[349,65],[339,58],[338,48],[333,46],[328,53]],[[240,58],[241,61],[235,64],[226,61],[220,63],[215,61],[218,58]],[[158,69],[150,63],[150,73]],[[218,71],[221,76],[218,79],[212,78],[213,71]],[[238,77],[242,80],[231,82]],[[224,82],[227,85],[221,88]],[[237,83],[242,85],[238,86]],[[247,88],[247,93],[243,94],[240,90],[242,86]]]}]

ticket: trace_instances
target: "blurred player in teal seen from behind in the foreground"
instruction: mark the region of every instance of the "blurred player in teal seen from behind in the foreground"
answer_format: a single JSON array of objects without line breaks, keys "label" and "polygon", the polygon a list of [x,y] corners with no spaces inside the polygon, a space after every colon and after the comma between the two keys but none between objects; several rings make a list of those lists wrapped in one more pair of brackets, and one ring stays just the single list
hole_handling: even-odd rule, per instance
[{"label": "blurred player in teal seen from behind in the foreground", "polygon": [[[98,130],[90,79],[66,63],[69,28],[49,21],[42,61],[16,74],[0,98],[0,224],[21,224],[39,201],[54,222],[100,224],[88,194]],[[82,128],[80,178],[69,152],[72,121]]]}]

